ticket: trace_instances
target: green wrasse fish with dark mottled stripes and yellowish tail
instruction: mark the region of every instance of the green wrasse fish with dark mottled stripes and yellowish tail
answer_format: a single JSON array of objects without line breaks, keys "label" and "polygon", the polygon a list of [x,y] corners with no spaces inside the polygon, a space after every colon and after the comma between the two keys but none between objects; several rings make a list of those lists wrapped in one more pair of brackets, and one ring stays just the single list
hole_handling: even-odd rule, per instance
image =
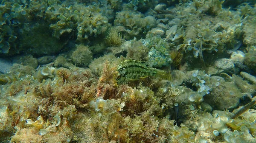
[{"label": "green wrasse fish with dark mottled stripes and yellowish tail", "polygon": [[128,81],[136,81],[150,76],[167,79],[168,73],[165,70],[152,68],[152,62],[142,62],[137,60],[125,60],[117,67],[117,84],[124,84]]}]

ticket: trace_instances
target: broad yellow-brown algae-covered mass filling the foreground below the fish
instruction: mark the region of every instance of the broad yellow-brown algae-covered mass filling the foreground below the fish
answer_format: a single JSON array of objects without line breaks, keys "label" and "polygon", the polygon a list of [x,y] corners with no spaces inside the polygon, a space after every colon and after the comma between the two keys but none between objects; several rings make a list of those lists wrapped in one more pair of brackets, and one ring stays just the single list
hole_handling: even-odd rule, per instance
[{"label": "broad yellow-brown algae-covered mass filling the foreground below the fish", "polygon": [[[134,88],[127,84],[117,86],[117,64],[111,65],[115,64],[105,62],[99,78],[89,69],[43,67],[40,73],[51,76],[38,80],[39,73],[35,73],[2,85],[0,132],[5,136],[1,140],[9,138],[24,143],[255,140],[253,117],[244,117],[247,112],[255,112],[253,109],[242,115],[248,120],[230,119],[230,112],[215,110],[211,114],[202,110],[202,105],[186,105],[192,91],[183,86],[167,89],[163,86],[157,94],[143,84]],[[171,100],[167,102],[164,98]],[[175,102],[183,106],[186,117],[180,126],[166,115]],[[253,126],[241,126],[248,123]],[[251,137],[246,138],[244,132]]]}]

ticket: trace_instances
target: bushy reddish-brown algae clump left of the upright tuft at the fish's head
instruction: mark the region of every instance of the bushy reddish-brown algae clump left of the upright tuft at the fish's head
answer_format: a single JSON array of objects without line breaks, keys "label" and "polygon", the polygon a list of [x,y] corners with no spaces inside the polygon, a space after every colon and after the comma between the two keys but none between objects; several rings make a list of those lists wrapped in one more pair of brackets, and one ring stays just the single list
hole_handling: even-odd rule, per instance
[{"label": "bushy reddish-brown algae clump left of the upright tuft at the fish's head", "polygon": [[69,105],[76,105],[84,108],[88,106],[89,102],[95,96],[96,81],[90,70],[80,71],[74,69],[72,71],[67,69],[57,70],[57,74],[61,79],[62,85],[55,88],[52,96],[55,101],[63,107]]}]

